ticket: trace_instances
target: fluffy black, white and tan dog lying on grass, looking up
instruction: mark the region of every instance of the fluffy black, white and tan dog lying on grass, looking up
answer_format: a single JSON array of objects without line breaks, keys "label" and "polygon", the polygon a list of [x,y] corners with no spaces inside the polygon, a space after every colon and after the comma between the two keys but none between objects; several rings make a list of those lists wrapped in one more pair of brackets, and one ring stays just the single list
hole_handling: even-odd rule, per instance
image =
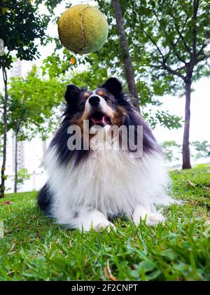
[{"label": "fluffy black, white and tan dog lying on grass, looking up", "polygon": [[[111,221],[119,216],[136,226],[141,219],[148,226],[164,223],[156,205],[174,203],[166,193],[165,156],[151,128],[123,93],[122,83],[109,78],[94,91],[68,85],[64,97],[64,119],[44,158],[49,179],[38,194],[41,210],[58,224],[80,231],[114,230]],[[69,131],[75,126],[76,136]],[[111,145],[116,142],[116,135],[110,132],[113,126],[132,127],[133,136],[125,132],[123,139],[122,132],[116,132],[118,149],[101,149],[104,135],[109,134]],[[138,128],[141,156],[131,147],[123,149],[123,142],[129,141],[138,147]],[[92,130],[97,131],[97,141],[92,141]],[[82,141],[80,148],[71,149],[77,139]]]}]

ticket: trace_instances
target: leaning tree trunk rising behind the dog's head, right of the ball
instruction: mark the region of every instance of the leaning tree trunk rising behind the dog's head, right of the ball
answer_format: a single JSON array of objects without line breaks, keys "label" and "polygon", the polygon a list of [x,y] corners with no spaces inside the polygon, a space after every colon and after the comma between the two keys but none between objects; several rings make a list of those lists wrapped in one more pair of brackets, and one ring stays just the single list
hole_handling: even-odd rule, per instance
[{"label": "leaning tree trunk rising behind the dog's head, right of the ball", "polygon": [[115,11],[115,16],[116,16],[116,24],[118,27],[118,36],[120,41],[120,50],[121,50],[121,55],[123,57],[124,71],[125,71],[125,77],[127,80],[128,90],[134,97],[134,101],[133,101],[134,107],[138,109],[138,111],[140,111],[137,85],[134,80],[134,70],[132,67],[132,60],[129,55],[127,36],[125,34],[125,29],[123,27],[123,15],[120,8],[120,0],[113,0],[113,8]]}]

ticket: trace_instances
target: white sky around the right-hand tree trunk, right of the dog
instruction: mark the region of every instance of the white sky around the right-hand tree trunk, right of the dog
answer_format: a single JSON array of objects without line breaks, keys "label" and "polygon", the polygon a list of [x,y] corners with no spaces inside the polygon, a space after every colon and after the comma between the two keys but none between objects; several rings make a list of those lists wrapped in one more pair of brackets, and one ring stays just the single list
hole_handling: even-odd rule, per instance
[{"label": "white sky around the right-hand tree trunk, right of the dog", "polygon": [[[201,78],[193,85],[195,91],[191,95],[191,122],[190,122],[190,141],[210,142],[210,78]],[[173,97],[165,95],[160,98],[163,102],[162,109],[169,111],[184,118],[185,99],[184,97]],[[167,128],[155,128],[154,134],[159,142],[165,140],[176,140],[181,143],[183,137],[183,128],[179,130],[169,130]]]}]

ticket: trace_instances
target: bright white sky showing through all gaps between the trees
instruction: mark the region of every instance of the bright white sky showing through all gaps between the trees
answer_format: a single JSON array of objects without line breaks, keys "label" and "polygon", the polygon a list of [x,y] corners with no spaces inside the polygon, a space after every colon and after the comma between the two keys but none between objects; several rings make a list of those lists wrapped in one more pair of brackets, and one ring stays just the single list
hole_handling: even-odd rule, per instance
[{"label": "bright white sky showing through all gaps between the trees", "polygon": [[[81,3],[94,5],[94,1],[71,1],[72,5]],[[59,6],[57,6],[57,8],[55,9],[55,15],[60,15],[62,12],[65,11],[65,4],[66,1],[63,1],[62,4],[59,4]],[[48,13],[43,5],[40,6],[40,13]],[[51,22],[48,26],[47,33],[50,36],[57,36],[57,25]],[[41,58],[34,62],[25,62],[24,74],[29,71],[29,69],[31,68],[31,64],[37,64],[38,66],[40,66],[43,59],[50,55],[53,50],[54,46],[52,45],[52,43],[48,44],[48,46],[45,47],[39,46]],[[201,78],[200,81],[197,81],[197,83],[193,85],[193,88],[195,89],[195,91],[192,92],[190,140],[210,141],[210,78]],[[165,95],[163,97],[158,97],[158,100],[163,102],[162,106],[159,107],[159,109],[169,111],[169,114],[174,114],[184,118],[184,97],[180,98],[176,96]],[[183,138],[183,128],[179,128],[179,130],[168,130],[164,127],[158,127],[155,128],[154,134],[155,137],[158,139],[158,142],[164,142],[165,140],[173,139],[176,140],[176,142],[181,143]]]}]

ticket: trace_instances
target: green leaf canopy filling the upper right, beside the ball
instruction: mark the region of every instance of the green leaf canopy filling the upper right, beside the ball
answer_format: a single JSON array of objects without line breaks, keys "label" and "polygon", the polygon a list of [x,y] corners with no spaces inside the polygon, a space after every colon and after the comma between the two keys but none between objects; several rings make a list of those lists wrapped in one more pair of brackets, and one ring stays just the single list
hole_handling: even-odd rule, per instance
[{"label": "green leaf canopy filling the upper right, beside the ball", "polygon": [[[111,27],[106,48],[98,53],[99,60],[104,58],[107,65],[111,60],[113,67],[120,67],[122,60],[111,1],[97,2]],[[198,5],[196,19],[194,4]],[[209,75],[209,62],[204,54],[205,41],[210,36],[207,1],[122,0],[120,5],[137,84],[146,81],[154,95],[172,92],[177,95],[178,91],[182,95],[183,81],[179,78],[185,76],[194,53],[197,57],[193,81]]]}]

